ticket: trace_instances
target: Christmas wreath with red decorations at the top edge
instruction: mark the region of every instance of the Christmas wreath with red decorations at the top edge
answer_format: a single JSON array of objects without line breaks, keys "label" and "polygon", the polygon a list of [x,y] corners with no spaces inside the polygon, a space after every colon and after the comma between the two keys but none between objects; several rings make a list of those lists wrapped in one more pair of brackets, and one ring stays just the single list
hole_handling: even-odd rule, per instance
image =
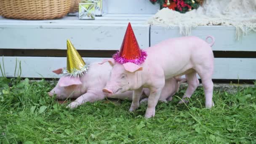
[{"label": "Christmas wreath with red decorations at the top edge", "polygon": [[159,3],[160,8],[170,8],[173,11],[186,13],[192,9],[197,9],[203,4],[203,0],[150,0],[151,3]]}]

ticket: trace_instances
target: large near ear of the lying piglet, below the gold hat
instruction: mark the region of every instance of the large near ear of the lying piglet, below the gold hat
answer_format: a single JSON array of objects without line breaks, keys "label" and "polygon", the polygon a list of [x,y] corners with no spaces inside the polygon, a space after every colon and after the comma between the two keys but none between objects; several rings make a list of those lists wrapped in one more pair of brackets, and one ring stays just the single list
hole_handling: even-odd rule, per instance
[{"label": "large near ear of the lying piglet, below the gold hat", "polygon": [[70,85],[80,85],[82,82],[79,77],[61,77],[58,84],[60,87],[67,87]]}]

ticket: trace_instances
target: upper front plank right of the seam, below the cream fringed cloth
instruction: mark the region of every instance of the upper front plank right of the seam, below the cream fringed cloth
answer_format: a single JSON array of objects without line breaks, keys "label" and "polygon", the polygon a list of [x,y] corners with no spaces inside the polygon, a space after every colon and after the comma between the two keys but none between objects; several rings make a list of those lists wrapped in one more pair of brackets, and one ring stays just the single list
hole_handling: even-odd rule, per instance
[{"label": "upper front plank right of the seam, below the cream fringed cloth", "polygon": [[[236,40],[235,33],[235,27],[201,26],[192,28],[191,35],[200,37],[203,40],[208,35],[214,36],[215,44],[213,45],[213,51],[256,51],[256,32],[242,37],[239,41]],[[165,27],[151,26],[150,35],[151,45],[155,45],[171,37],[181,37],[178,27],[168,29]]]}]

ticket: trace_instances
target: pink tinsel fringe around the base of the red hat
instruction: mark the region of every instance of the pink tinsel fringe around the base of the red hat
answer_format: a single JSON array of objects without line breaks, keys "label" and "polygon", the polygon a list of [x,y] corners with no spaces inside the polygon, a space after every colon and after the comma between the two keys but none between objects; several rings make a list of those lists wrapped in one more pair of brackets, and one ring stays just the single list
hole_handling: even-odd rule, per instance
[{"label": "pink tinsel fringe around the base of the red hat", "polygon": [[115,53],[113,55],[113,59],[115,59],[116,62],[118,62],[119,64],[125,64],[127,62],[132,62],[134,64],[142,64],[147,58],[147,52],[141,50],[141,56],[139,59],[125,59],[122,56],[120,56],[120,51],[117,51],[117,53]]}]

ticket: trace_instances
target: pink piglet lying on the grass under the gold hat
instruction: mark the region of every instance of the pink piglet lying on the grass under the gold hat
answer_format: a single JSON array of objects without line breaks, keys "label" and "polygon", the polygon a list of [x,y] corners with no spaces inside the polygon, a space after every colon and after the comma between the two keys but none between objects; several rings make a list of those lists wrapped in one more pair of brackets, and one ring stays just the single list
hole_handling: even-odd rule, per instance
[{"label": "pink piglet lying on the grass under the gold hat", "polygon": [[[111,69],[112,67],[108,63],[92,63],[90,64],[88,72],[84,73],[80,78],[61,77],[56,87],[48,92],[48,94],[50,96],[56,94],[57,99],[76,99],[67,106],[69,108],[75,108],[87,101],[93,102],[103,100],[105,97],[131,100],[132,91],[126,91],[124,93],[114,95],[108,95],[102,92],[102,88],[104,88],[107,80],[109,79]],[[61,69],[54,72],[60,74]],[[171,101],[171,96],[179,90],[179,85],[184,81],[184,79],[179,78],[170,78],[165,80],[165,86],[160,96],[160,101]],[[149,96],[149,89],[144,88],[142,92],[145,93],[146,96]]]}]

